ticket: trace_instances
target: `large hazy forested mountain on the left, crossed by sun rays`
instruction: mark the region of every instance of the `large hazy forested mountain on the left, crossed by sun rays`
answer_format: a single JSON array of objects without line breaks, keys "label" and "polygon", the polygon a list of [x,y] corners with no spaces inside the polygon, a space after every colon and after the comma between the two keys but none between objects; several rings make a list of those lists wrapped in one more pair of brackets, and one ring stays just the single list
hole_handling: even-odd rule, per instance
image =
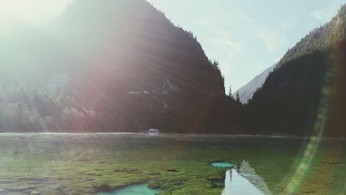
[{"label": "large hazy forested mountain on the left, crossed by sun rays", "polygon": [[214,132],[241,108],[192,32],[147,1],[76,0],[44,30],[6,29],[1,131]]}]

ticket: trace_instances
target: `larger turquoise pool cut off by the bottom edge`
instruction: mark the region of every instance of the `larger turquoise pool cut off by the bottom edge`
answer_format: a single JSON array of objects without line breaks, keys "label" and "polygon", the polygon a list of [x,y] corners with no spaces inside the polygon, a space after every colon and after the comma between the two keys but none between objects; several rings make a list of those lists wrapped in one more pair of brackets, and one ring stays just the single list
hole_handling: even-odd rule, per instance
[{"label": "larger turquoise pool cut off by the bottom edge", "polygon": [[113,192],[102,192],[99,195],[156,195],[161,192],[160,189],[151,189],[147,187],[147,183],[140,183],[120,187]]}]

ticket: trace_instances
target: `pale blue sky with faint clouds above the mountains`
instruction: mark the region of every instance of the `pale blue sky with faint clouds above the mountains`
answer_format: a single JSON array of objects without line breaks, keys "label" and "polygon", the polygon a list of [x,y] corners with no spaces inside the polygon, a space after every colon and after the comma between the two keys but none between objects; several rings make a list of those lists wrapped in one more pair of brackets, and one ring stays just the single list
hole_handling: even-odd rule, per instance
[{"label": "pale blue sky with faint clouds above the mountains", "polygon": [[[57,17],[71,0],[0,0],[0,17],[33,24]],[[116,0],[114,0],[116,1]],[[272,66],[310,30],[336,15],[346,0],[148,0],[177,26],[197,35],[219,61],[233,91]]]}]

